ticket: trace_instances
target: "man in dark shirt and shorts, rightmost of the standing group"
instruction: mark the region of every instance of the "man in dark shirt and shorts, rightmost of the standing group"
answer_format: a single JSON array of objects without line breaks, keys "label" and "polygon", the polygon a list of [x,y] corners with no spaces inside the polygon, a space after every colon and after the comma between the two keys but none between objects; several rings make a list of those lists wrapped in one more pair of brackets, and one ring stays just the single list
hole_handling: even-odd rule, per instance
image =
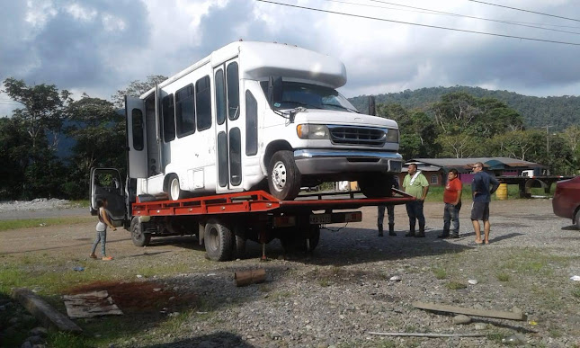
[{"label": "man in dark shirt and shorts, rightmost of the standing group", "polygon": [[[483,164],[477,162],[473,165],[473,181],[471,182],[471,192],[473,192],[473,206],[471,208],[471,222],[476,232],[476,244],[489,244],[489,202],[491,194],[499,187],[499,182],[495,177],[483,171]],[[492,184],[491,190],[489,189]],[[484,222],[484,240],[481,240],[481,231],[479,230],[479,220]]]}]

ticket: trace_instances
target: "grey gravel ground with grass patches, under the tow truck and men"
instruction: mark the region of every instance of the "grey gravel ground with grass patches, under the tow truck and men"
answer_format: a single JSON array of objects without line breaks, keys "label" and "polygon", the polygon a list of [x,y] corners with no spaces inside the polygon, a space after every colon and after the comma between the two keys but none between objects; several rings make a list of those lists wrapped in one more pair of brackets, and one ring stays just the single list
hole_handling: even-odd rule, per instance
[{"label": "grey gravel ground with grass patches, under the tow truck and men", "polygon": [[[267,262],[258,260],[261,248],[254,243],[248,244],[244,259],[214,263],[191,242],[158,239],[139,249],[126,235],[112,235],[116,267],[129,267],[138,260],[134,256],[143,254],[148,254],[150,265],[192,257],[190,272],[139,281],[156,281],[162,286],[160,293],[172,291],[178,299],[197,299],[196,307],[171,332],[160,329],[158,322],[144,322],[139,335],[114,342],[115,346],[478,347],[509,342],[580,346],[580,286],[570,280],[580,275],[580,231],[570,226],[571,221],[555,217],[549,200],[492,202],[491,244],[483,246],[470,245],[474,234],[468,204],[460,214],[461,237],[446,240],[436,238],[441,233],[442,204],[425,204],[425,238],[403,236],[402,206],[396,207],[397,236],[379,238],[376,210],[362,211],[361,223],[340,231],[323,230],[312,255],[284,254],[273,241],[267,247]],[[50,236],[56,244],[71,242],[67,253],[86,254],[90,242],[77,243],[86,233],[67,228],[56,240],[47,232],[42,236]],[[2,236],[5,248],[0,244],[0,254],[3,249],[10,254],[5,251],[22,244],[22,232]],[[67,256],[64,250],[63,246],[59,253]],[[236,288],[233,273],[255,268],[265,269],[266,281]],[[415,301],[504,311],[516,307],[528,319],[472,317],[471,324],[454,325],[452,314],[416,309]],[[166,315],[176,316],[171,310]],[[485,336],[381,337],[369,332]]]}]

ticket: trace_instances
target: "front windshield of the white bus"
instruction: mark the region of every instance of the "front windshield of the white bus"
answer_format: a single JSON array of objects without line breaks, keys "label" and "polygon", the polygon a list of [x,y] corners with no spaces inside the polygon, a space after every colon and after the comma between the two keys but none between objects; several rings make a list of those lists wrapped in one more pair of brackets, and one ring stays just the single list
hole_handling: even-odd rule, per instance
[{"label": "front windshield of the white bus", "polygon": [[[268,83],[264,81],[261,85],[263,93],[267,95]],[[271,106],[275,110],[301,106],[307,109],[358,112],[352,103],[335,89],[300,82],[282,82],[282,100]]]}]

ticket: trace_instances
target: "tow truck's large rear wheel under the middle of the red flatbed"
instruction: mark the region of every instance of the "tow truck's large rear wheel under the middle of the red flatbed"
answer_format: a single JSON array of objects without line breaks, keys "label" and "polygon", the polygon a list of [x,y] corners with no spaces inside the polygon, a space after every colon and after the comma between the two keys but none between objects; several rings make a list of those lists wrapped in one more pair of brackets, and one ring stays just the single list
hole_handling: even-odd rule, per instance
[{"label": "tow truck's large rear wheel under the middle of the red flatbed", "polygon": [[217,219],[210,219],[205,224],[203,242],[210,260],[231,260],[235,241],[236,236],[234,236],[231,228],[219,222]]}]

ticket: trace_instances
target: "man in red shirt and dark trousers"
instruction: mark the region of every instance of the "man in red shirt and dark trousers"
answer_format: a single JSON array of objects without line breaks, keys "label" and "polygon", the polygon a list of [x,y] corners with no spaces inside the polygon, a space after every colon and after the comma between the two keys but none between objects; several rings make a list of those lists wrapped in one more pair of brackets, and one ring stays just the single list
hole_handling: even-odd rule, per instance
[{"label": "man in red shirt and dark trousers", "polygon": [[[461,192],[463,185],[458,178],[457,169],[450,169],[447,174],[447,184],[443,192],[443,202],[445,210],[443,212],[443,233],[438,238],[459,238],[460,237],[460,210],[461,210]],[[450,225],[453,223],[450,235]]]}]

